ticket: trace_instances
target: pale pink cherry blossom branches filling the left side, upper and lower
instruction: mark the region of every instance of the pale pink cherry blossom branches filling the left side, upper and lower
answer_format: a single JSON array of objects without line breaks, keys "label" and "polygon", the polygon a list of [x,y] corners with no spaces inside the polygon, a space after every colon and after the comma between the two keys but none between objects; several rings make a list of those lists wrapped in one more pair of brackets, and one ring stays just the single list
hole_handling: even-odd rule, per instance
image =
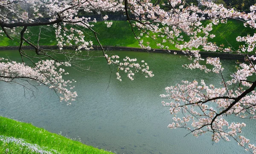
[{"label": "pale pink cherry blossom branches filling the left side, upper and lower", "polygon": [[[18,84],[20,84],[18,80],[25,80],[29,83],[31,80],[36,80],[60,94],[61,101],[73,101],[77,97],[76,91],[72,91],[74,88],[72,83],[75,81],[63,80],[62,74],[68,74],[68,72],[65,72],[61,66],[70,66],[75,69],[79,67],[83,71],[87,69],[80,67],[77,62],[93,57],[104,57],[108,65],[116,65],[118,70],[125,72],[131,80],[134,80],[134,74],[139,71],[146,77],[154,76],[145,63],[136,63],[136,58],[125,57],[123,60],[119,60],[118,55],[105,54],[105,49],[97,37],[98,33],[93,30],[93,23],[97,22],[96,19],[77,16],[79,11],[100,14],[102,11],[122,10],[122,1],[116,0],[1,0],[0,34],[9,39],[20,37],[19,53],[22,63],[9,62],[8,59],[1,58],[0,80]],[[103,18],[107,20],[108,16]],[[105,21],[105,23],[107,27],[112,25],[112,22]],[[45,28],[45,26],[54,27],[58,50],[49,50],[40,46],[41,28]],[[37,41],[29,39],[29,27],[40,29]],[[102,56],[89,54],[93,49],[93,42],[84,40],[87,30],[93,32],[100,44]],[[23,50],[23,46],[26,45],[31,46],[36,55]],[[64,46],[73,46],[74,49],[64,50]],[[35,58],[37,61],[34,60]],[[47,58],[49,60],[45,60]],[[27,60],[31,61],[33,65],[26,64]],[[116,78],[122,81],[119,72],[116,72]]]}]

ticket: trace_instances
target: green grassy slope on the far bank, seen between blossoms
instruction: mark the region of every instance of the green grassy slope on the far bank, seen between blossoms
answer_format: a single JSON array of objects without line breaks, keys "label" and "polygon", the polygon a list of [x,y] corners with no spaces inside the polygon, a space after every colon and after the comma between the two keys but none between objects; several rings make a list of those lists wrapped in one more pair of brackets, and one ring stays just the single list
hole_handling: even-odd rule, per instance
[{"label": "green grassy slope on the far bank, seen between blossoms", "polygon": [[[209,21],[206,21],[206,23],[208,22]],[[107,28],[104,22],[93,24],[94,26],[92,28],[99,33],[98,38],[104,46],[140,47],[127,21],[113,21],[113,25],[110,28]],[[18,31],[18,29],[16,31]],[[37,44],[40,29],[38,27],[29,27],[29,31],[27,38]],[[137,35],[140,34],[140,31],[136,28],[134,28],[134,31]],[[85,34],[84,40],[92,40],[94,45],[99,45],[90,30],[85,29],[85,32],[87,34]],[[228,20],[227,24],[213,25],[213,30],[210,34],[215,34],[216,37],[209,39],[209,41],[215,42],[217,45],[224,44],[224,47],[228,47],[230,46],[229,44],[231,44],[235,49],[238,49],[239,45],[242,43],[236,42],[236,37],[254,34],[254,32],[253,29],[245,28],[241,21]],[[19,46],[18,36],[13,36],[13,38],[14,40],[10,40],[5,36],[0,36],[0,46]],[[151,38],[145,36],[141,38],[144,40],[144,43],[150,42],[151,48],[159,48]],[[186,36],[184,36],[184,40],[187,40]],[[157,37],[156,41],[160,41],[160,37]],[[56,45],[55,29],[50,26],[41,27],[41,39],[39,44]],[[165,43],[165,46],[169,46],[169,49],[177,50],[173,44]]]}]

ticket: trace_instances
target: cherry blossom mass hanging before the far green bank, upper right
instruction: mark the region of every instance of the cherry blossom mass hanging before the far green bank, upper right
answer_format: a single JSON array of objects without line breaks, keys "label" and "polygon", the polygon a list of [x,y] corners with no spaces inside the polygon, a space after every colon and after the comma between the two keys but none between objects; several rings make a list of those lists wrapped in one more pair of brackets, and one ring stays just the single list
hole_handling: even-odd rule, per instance
[{"label": "cherry blossom mass hanging before the far green bank, upper right", "polygon": [[[224,8],[222,4],[217,5],[209,1],[202,1],[201,4],[207,8],[201,10],[198,6],[185,6],[185,0],[170,0],[168,3],[163,3],[163,6],[169,6],[172,9],[161,9],[158,5],[153,5],[150,0],[130,0],[128,7],[131,13],[135,15],[137,21],[133,26],[142,29],[143,33],[149,37],[156,39],[161,37],[162,42],[157,46],[166,47],[166,42],[175,43],[177,48],[182,49],[187,54],[191,54],[191,50],[197,48],[204,51],[220,51],[220,52],[240,52],[233,50],[232,46],[223,47],[211,43],[209,39],[214,38],[211,34],[212,26],[219,23],[226,23],[227,19],[236,19],[244,22],[244,26],[256,28],[255,6],[251,7],[250,13],[239,12],[234,9]],[[210,20],[209,23],[202,23],[204,20]],[[158,35],[156,35],[158,34]],[[183,40],[183,35],[189,36],[189,41]],[[247,36],[248,39],[250,36]],[[255,38],[255,37],[254,37]],[[143,42],[140,37],[140,46],[150,49],[148,42]],[[253,38],[250,38],[253,41]],[[255,41],[254,41],[255,42]],[[251,42],[246,48],[248,52],[253,51],[255,43]],[[184,50],[188,49],[188,50]],[[241,52],[240,52],[241,53]],[[247,52],[243,52],[246,54]],[[196,55],[195,55],[196,56]]]}]

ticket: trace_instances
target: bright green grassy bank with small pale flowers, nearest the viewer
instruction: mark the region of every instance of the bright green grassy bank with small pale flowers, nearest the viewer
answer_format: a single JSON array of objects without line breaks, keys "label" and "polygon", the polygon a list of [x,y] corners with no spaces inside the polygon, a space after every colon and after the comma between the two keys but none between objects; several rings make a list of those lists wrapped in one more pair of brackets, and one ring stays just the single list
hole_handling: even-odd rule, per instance
[{"label": "bright green grassy bank with small pale flowers, nearest the viewer", "polygon": [[[15,137],[23,140],[26,145],[14,142],[4,142],[5,137]],[[1,154],[36,154],[29,145],[38,145],[53,154],[111,154],[102,149],[93,148],[58,134],[50,133],[43,128],[37,128],[29,123],[21,123],[5,117],[0,117],[0,153]]]}]

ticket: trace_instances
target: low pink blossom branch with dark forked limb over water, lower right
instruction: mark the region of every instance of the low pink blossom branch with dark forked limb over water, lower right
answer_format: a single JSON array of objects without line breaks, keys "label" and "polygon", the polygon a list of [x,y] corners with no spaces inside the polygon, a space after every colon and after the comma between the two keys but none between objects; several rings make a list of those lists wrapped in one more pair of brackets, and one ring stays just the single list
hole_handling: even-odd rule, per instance
[{"label": "low pink blossom branch with dark forked limb over water, lower right", "polygon": [[[232,91],[225,87],[215,88],[214,85],[207,86],[204,80],[198,83],[182,81],[183,84],[166,87],[166,94],[161,94],[162,98],[168,101],[162,101],[163,106],[168,106],[170,113],[173,114],[173,123],[169,124],[169,128],[186,128],[191,133],[198,135],[212,132],[212,140],[218,143],[224,139],[229,141],[234,138],[239,145],[249,143],[245,137],[238,136],[245,127],[245,123],[229,123],[224,119],[224,115],[236,114],[241,118],[247,117],[247,110],[250,108],[250,114],[255,114],[256,96],[247,95],[239,100],[234,106],[227,110],[233,101],[241,95],[242,91]],[[224,114],[218,115],[222,111]],[[238,137],[237,137],[238,136]],[[247,141],[245,141],[247,140]],[[255,146],[250,144],[249,149],[255,151]]]}]

